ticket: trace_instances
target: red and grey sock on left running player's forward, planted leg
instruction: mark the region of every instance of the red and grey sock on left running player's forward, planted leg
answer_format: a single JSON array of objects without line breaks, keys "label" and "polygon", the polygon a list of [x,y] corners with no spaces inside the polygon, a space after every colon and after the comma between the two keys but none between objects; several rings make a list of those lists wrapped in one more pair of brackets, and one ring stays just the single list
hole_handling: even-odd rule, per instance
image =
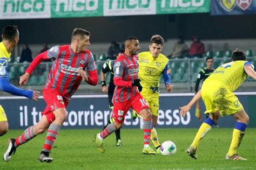
[{"label": "red and grey sock on left running player's forward, planted leg", "polygon": [[44,147],[43,147],[43,152],[50,152],[53,144],[55,143],[56,137],[59,133],[60,130],[59,125],[57,124],[51,124],[48,128],[48,132],[46,134],[45,142],[44,142]]}]

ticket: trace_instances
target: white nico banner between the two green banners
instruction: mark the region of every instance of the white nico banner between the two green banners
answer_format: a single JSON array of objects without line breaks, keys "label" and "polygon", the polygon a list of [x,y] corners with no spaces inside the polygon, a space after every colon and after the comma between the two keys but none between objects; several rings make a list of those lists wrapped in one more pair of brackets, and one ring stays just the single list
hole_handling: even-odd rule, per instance
[{"label": "white nico banner between the two green banners", "polygon": [[104,16],[156,15],[156,0],[104,1]]}]

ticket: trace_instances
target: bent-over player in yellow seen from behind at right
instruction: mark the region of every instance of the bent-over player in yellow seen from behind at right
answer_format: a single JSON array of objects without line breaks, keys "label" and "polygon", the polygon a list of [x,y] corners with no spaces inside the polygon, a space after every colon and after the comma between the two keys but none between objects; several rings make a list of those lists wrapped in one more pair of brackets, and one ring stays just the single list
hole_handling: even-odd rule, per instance
[{"label": "bent-over player in yellow seen from behind at right", "polygon": [[197,159],[196,151],[199,141],[211,130],[211,127],[214,122],[218,121],[220,115],[232,115],[237,124],[233,130],[233,137],[226,160],[247,160],[237,154],[237,149],[242,137],[244,137],[249,117],[233,91],[240,87],[248,76],[256,80],[254,66],[251,62],[246,61],[244,51],[236,49],[232,53],[232,62],[219,66],[204,81],[201,90],[198,91],[190,103],[180,108],[180,115],[184,117],[192,105],[202,97],[206,107],[205,113],[210,114],[210,117],[201,124],[193,143],[187,148],[186,152],[191,158]]}]

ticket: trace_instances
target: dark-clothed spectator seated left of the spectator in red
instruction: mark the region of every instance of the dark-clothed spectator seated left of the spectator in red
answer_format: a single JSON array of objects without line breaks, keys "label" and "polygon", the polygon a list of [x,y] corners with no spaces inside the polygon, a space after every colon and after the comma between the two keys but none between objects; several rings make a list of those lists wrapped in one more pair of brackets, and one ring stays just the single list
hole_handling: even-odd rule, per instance
[{"label": "dark-clothed spectator seated left of the spectator in red", "polygon": [[168,58],[182,58],[187,52],[188,47],[185,44],[183,37],[179,36],[173,47],[173,52],[168,56]]}]

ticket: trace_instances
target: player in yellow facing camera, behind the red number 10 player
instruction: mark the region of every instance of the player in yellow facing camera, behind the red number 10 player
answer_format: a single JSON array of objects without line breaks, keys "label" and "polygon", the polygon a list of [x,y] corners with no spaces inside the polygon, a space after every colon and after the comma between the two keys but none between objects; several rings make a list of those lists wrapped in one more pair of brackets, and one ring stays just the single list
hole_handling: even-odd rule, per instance
[{"label": "player in yellow facing camera, behind the red number 10 player", "polygon": [[150,40],[150,51],[139,53],[139,79],[141,80],[140,84],[143,87],[140,94],[142,94],[150,105],[153,125],[151,130],[151,141],[156,147],[157,153],[160,152],[160,143],[155,127],[158,119],[161,75],[164,77],[166,90],[169,92],[172,90],[169,59],[164,54],[161,54],[163,44],[164,39],[159,35],[154,35]]}]

